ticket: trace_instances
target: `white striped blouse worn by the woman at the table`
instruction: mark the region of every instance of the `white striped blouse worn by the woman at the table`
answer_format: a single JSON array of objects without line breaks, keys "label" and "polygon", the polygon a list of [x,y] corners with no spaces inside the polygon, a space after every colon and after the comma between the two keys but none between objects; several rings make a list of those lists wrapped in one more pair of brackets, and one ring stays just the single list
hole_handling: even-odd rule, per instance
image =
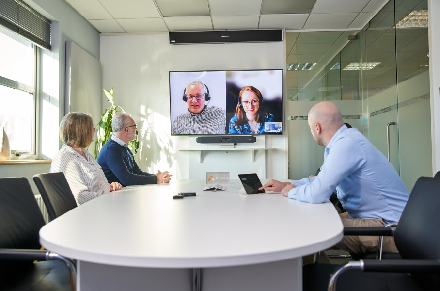
[{"label": "white striped blouse worn by the woman at the table", "polygon": [[110,184],[101,166],[86,149],[84,153],[88,160],[63,144],[50,166],[51,173],[64,173],[78,205],[110,192]]}]

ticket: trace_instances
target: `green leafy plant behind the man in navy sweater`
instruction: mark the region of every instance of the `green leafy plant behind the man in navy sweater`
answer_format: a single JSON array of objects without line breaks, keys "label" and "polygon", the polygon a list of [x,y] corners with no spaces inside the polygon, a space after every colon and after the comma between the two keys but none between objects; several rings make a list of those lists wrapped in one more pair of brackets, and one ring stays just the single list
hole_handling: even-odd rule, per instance
[{"label": "green leafy plant behind the man in navy sweater", "polygon": [[[113,120],[113,116],[118,112],[125,113],[124,109],[122,109],[121,106],[116,106],[114,104],[113,88],[111,88],[110,91],[104,89],[104,93],[106,94],[107,99],[109,99],[111,106],[109,108],[106,108],[104,114],[101,115],[101,120],[99,120],[99,123],[95,126],[96,136],[97,136],[96,142],[94,143],[95,159],[98,158],[98,153],[101,151],[102,146],[104,146],[104,144],[111,137],[112,134],[111,121]],[[130,150],[133,152],[134,155],[138,153],[138,149],[139,149],[138,130],[136,130],[136,139],[128,143],[128,148],[130,148]]]}]

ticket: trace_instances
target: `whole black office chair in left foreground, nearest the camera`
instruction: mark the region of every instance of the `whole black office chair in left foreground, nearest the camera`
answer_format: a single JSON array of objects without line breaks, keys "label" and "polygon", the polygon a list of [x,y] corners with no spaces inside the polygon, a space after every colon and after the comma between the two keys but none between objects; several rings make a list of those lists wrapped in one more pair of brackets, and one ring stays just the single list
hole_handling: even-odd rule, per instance
[{"label": "whole black office chair in left foreground, nearest the camera", "polygon": [[41,250],[39,231],[44,225],[28,180],[0,178],[1,290],[75,290],[73,261]]}]

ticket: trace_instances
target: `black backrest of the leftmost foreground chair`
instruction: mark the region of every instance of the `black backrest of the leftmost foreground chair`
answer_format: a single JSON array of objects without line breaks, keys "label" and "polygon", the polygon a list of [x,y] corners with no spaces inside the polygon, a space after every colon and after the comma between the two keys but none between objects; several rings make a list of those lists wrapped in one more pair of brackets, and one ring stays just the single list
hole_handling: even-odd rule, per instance
[{"label": "black backrest of the leftmost foreground chair", "polygon": [[[45,225],[29,181],[24,178],[0,178],[0,248],[40,249],[39,231]],[[30,262],[17,262],[15,267]],[[0,275],[14,268],[0,261]]]}]

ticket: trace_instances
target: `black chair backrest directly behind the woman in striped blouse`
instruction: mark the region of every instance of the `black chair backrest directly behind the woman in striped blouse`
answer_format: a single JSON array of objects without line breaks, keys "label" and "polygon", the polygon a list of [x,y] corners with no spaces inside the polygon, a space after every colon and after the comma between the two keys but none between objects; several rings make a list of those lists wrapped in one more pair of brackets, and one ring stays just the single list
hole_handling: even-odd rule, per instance
[{"label": "black chair backrest directly behind the woman in striped blouse", "polygon": [[77,207],[77,202],[63,172],[37,174],[33,176],[33,180],[46,205],[50,220]]}]

